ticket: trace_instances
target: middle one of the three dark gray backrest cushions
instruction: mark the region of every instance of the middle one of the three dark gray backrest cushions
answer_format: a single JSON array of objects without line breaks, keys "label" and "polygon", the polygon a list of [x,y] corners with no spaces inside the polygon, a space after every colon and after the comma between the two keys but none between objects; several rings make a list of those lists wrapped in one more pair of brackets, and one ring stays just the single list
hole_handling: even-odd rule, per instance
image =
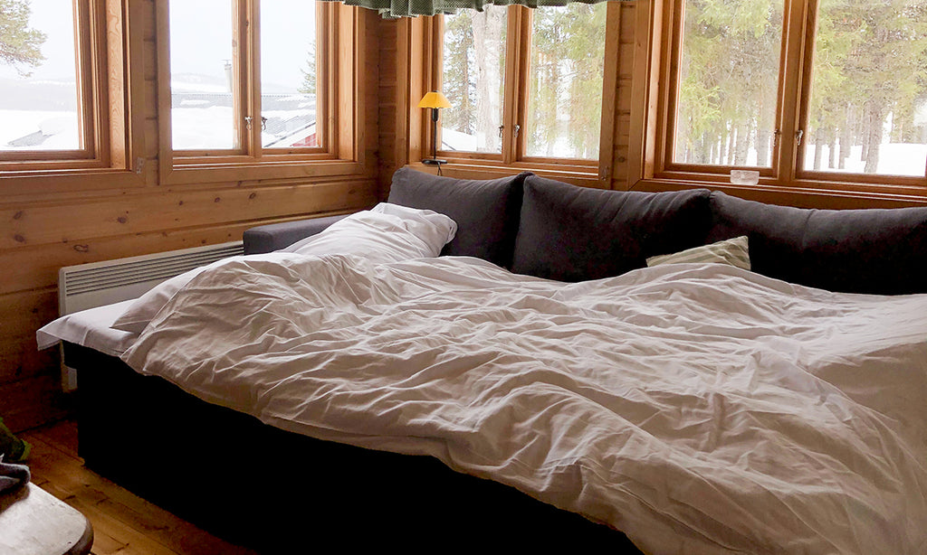
[{"label": "middle one of the three dark gray backrest cushions", "polygon": [[709,191],[602,191],[529,176],[512,270],[562,281],[617,276],[705,242]]}]

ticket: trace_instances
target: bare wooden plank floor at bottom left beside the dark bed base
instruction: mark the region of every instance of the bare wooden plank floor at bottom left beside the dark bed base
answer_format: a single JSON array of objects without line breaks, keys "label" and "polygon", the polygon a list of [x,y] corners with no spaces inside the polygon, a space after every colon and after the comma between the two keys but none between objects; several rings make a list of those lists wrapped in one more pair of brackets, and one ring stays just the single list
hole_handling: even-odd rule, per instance
[{"label": "bare wooden plank floor at bottom left beside the dark bed base", "polygon": [[19,435],[32,443],[32,482],[83,512],[95,555],[244,555],[233,546],[87,470],[77,424],[63,421]]}]

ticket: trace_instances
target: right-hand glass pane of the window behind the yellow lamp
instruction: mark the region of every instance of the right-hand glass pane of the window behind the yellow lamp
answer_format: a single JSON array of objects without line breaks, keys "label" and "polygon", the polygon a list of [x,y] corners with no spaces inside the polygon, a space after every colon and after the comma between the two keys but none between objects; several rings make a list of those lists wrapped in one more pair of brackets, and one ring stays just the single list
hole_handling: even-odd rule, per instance
[{"label": "right-hand glass pane of the window behind the yellow lamp", "polygon": [[599,157],[604,3],[533,10],[528,71],[528,156]]}]

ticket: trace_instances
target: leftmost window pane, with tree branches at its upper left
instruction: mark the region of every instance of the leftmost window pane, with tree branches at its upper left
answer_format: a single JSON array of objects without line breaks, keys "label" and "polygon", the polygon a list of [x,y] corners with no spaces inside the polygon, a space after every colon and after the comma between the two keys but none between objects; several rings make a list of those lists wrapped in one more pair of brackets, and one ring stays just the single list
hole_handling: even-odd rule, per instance
[{"label": "leftmost window pane, with tree branches at its upper left", "polygon": [[0,151],[78,150],[73,2],[17,5],[0,14]]}]

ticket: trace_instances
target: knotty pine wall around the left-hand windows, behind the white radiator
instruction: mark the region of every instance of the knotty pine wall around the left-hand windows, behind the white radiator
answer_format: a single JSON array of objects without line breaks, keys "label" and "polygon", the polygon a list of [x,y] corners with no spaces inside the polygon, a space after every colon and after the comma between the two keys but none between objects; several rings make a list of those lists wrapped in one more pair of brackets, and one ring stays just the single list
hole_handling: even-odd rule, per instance
[{"label": "knotty pine wall around the left-hand windows, behind the white radiator", "polygon": [[[134,5],[134,0],[133,0]],[[256,225],[343,213],[377,200],[379,18],[361,10],[359,127],[361,174],[303,179],[240,180],[166,186],[158,174],[157,44],[154,0],[140,0],[144,76],[133,110],[144,117],[144,179],[92,176],[8,179],[0,176],[0,417],[14,430],[39,425],[65,409],[57,350],[37,351],[35,331],[57,317],[57,271],[124,256],[240,240]],[[133,8],[135,9],[135,8]]]}]

